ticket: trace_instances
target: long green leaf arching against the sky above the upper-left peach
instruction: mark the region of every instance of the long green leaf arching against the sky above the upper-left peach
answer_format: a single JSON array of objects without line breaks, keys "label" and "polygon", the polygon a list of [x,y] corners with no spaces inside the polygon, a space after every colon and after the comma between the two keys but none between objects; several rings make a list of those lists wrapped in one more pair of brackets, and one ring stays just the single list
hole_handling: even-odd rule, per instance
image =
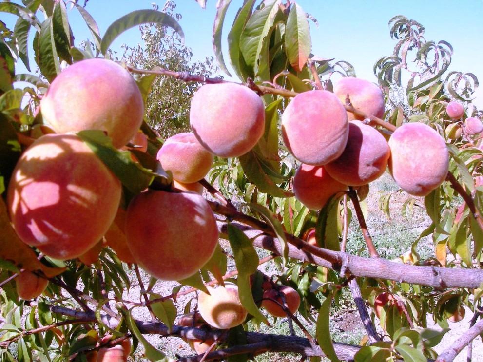
[{"label": "long green leaf arching against the sky above the upper-left peach", "polygon": [[127,29],[131,29],[134,26],[146,24],[146,23],[157,23],[164,26],[169,26],[173,28],[184,40],[184,33],[178,22],[168,14],[162,13],[156,10],[136,10],[123,17],[117,19],[106,30],[106,34],[102,37],[100,51],[102,54],[106,54],[107,49],[111,43],[116,39],[122,32]]}]

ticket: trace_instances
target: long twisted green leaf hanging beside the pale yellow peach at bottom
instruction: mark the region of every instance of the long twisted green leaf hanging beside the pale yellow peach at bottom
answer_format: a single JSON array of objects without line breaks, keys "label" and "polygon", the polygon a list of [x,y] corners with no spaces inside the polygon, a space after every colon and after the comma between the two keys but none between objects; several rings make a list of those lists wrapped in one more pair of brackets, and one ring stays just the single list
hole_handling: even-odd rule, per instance
[{"label": "long twisted green leaf hanging beside the pale yellow peach at bottom", "polygon": [[258,255],[250,239],[240,229],[228,224],[228,239],[233,250],[236,269],[238,270],[238,296],[241,304],[255,318],[270,325],[253,300],[250,275],[258,268]]}]

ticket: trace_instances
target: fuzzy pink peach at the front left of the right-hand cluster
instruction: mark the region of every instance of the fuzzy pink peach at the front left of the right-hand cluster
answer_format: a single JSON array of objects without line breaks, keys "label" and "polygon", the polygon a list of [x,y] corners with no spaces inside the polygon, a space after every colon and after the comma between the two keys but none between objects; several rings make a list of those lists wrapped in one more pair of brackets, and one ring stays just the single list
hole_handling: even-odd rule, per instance
[{"label": "fuzzy pink peach at the front left of the right-hand cluster", "polygon": [[346,147],[349,126],[339,99],[328,91],[309,91],[294,97],[282,115],[282,136],[300,162],[325,165]]}]

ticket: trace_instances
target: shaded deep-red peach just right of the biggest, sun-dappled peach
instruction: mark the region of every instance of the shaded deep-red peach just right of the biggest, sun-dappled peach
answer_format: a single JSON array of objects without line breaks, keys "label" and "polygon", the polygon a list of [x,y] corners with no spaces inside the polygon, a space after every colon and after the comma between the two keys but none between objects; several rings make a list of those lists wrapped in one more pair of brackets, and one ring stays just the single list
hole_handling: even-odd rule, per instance
[{"label": "shaded deep-red peach just right of the biggest, sun-dappled peach", "polygon": [[127,210],[125,232],[136,262],[163,280],[193,275],[218,244],[210,206],[191,192],[150,190],[135,196]]}]

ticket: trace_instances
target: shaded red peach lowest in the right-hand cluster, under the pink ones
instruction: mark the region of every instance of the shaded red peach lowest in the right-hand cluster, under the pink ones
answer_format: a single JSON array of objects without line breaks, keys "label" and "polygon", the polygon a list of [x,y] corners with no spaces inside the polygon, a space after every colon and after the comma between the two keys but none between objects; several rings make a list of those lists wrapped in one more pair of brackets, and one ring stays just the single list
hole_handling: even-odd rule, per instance
[{"label": "shaded red peach lowest in the right-hand cluster, under the pink ones", "polygon": [[301,164],[293,177],[293,193],[297,200],[312,210],[320,210],[328,199],[347,185],[334,180],[323,166]]}]

